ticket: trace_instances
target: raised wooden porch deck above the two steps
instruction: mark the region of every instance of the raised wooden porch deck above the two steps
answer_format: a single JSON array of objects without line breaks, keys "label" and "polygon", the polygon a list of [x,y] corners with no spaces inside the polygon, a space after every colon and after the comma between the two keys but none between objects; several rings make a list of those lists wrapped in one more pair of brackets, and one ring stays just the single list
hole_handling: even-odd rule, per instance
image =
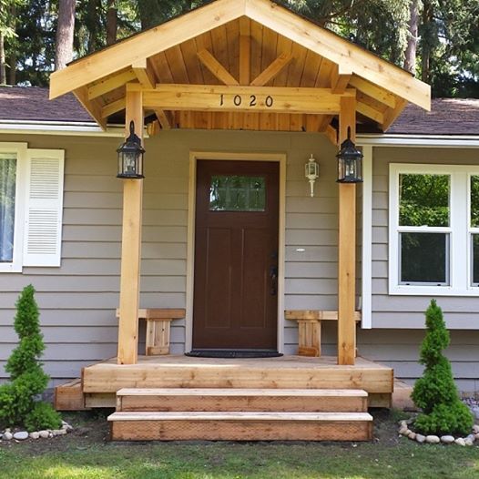
[{"label": "raised wooden porch deck above the two steps", "polygon": [[137,364],[123,365],[112,358],[83,370],[82,391],[90,407],[95,407],[95,398],[109,403],[110,395],[114,405],[113,395],[122,388],[362,389],[369,393],[370,405],[388,406],[393,372],[361,357],[352,366],[340,366],[332,356],[213,359],[183,355],[139,356]]}]

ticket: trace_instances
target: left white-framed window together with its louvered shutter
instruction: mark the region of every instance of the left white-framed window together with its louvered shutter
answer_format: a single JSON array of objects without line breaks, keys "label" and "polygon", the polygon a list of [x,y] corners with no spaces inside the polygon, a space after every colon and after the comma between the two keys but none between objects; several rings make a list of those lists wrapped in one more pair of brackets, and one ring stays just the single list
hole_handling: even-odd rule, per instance
[{"label": "left white-framed window together with its louvered shutter", "polygon": [[64,151],[0,143],[0,272],[60,266]]}]

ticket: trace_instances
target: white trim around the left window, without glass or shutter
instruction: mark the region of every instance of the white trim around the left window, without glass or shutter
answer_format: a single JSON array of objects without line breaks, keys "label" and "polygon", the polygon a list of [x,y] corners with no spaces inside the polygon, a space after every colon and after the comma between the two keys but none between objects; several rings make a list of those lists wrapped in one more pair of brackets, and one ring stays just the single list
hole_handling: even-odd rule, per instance
[{"label": "white trim around the left window, without glass or shutter", "polygon": [[0,262],[0,272],[22,272],[25,236],[26,182],[28,157],[26,143],[0,143],[0,152],[15,153],[15,228],[14,255],[11,263]]}]

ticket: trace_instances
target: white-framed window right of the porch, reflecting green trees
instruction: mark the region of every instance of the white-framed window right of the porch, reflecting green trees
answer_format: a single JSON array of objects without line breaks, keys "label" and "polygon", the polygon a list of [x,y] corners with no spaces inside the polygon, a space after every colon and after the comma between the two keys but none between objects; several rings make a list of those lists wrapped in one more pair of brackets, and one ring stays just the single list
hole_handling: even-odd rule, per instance
[{"label": "white-framed window right of the porch, reflecting green trees", "polygon": [[389,293],[479,295],[479,167],[390,164]]}]

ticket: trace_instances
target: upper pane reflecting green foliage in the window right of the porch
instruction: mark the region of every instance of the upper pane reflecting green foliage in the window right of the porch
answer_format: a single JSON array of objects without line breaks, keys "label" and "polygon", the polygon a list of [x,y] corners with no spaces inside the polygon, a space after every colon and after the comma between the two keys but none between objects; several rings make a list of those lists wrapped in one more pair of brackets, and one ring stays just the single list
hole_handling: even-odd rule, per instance
[{"label": "upper pane reflecting green foliage in the window right of the porch", "polygon": [[399,175],[399,225],[449,226],[449,175]]}]

